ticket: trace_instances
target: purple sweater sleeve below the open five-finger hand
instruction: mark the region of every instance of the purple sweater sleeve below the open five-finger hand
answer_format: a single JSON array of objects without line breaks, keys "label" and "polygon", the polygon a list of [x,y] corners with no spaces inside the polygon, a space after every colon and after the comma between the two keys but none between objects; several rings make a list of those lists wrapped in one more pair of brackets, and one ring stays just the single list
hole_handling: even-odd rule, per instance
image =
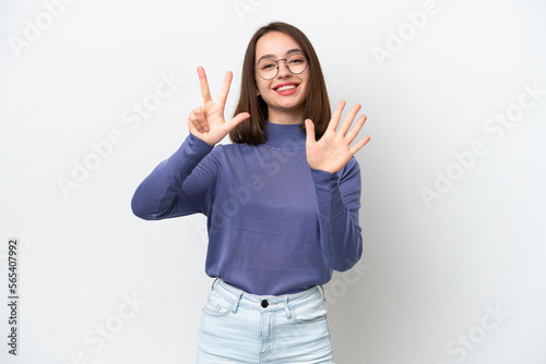
[{"label": "purple sweater sleeve below the open five-finger hand", "polygon": [[311,177],[318,198],[320,245],[324,263],[334,270],[348,270],[363,254],[358,222],[360,168],[353,157],[337,173],[311,169]]}]

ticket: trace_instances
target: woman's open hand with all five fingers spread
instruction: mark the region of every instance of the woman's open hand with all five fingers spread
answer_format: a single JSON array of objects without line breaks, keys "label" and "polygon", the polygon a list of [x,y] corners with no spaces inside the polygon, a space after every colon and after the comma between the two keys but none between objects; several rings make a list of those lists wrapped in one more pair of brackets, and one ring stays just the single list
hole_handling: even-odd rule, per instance
[{"label": "woman's open hand with all five fingers spread", "polygon": [[310,119],[306,120],[307,162],[312,169],[320,169],[331,173],[339,172],[349,161],[351,157],[369,142],[370,136],[366,135],[360,142],[351,147],[351,143],[356,138],[367,119],[363,114],[356,125],[348,131],[358,110],[360,110],[358,104],[351,109],[340,130],[336,131],[345,104],[345,101],[337,104],[328,129],[319,141],[314,139],[314,124]]}]

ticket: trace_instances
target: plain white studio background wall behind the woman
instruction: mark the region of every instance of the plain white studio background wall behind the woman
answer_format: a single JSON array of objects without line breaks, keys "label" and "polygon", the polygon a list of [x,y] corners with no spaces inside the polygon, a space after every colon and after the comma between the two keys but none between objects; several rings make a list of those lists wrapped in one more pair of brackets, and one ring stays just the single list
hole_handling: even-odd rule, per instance
[{"label": "plain white studio background wall behind the woman", "polygon": [[[40,1],[2,1],[0,362],[194,361],[212,282],[204,218],[144,221],[130,199],[188,135],[201,102],[195,68],[213,95],[234,71],[232,114],[248,40],[284,21],[316,47],[332,105],[363,104],[371,135],[357,155],[365,253],[327,287],[336,363],[544,364],[546,4],[438,0],[416,29],[408,14],[424,5],[78,0],[54,17]],[[395,51],[379,61],[375,47]],[[173,94],[127,123],[162,74],[178,78]],[[543,94],[524,96],[534,105],[513,126],[491,124],[518,110],[524,84]],[[116,130],[118,145],[93,159],[92,144]],[[464,169],[454,155],[475,141],[486,151]],[[63,193],[59,180],[85,160],[94,170]],[[456,181],[427,205],[423,189],[448,172]],[[20,240],[16,357],[7,347],[10,238]],[[141,303],[130,308],[133,295]]]}]

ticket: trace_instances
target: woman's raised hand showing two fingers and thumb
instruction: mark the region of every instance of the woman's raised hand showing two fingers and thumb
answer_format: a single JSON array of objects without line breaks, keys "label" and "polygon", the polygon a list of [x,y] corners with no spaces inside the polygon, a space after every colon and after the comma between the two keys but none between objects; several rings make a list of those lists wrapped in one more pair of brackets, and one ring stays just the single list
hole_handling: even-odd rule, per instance
[{"label": "woman's raised hand showing two fingers and thumb", "polygon": [[227,122],[224,120],[224,106],[232,84],[232,72],[227,72],[224,85],[222,85],[218,98],[215,101],[211,99],[209,82],[202,66],[198,66],[198,75],[201,85],[201,95],[203,96],[203,106],[191,110],[188,119],[188,128],[191,134],[214,146],[229,134],[238,123],[250,118],[250,114],[241,112]]}]

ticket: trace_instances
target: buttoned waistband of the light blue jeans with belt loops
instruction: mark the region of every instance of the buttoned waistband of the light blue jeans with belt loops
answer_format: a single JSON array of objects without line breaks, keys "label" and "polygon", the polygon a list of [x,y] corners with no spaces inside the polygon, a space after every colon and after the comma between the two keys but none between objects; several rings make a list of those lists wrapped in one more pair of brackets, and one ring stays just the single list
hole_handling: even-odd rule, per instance
[{"label": "buttoned waistband of the light blue jeans with belt loops", "polygon": [[[300,304],[306,304],[312,300],[324,300],[318,286],[298,293],[285,295],[258,295],[239,290],[218,277],[212,283],[212,289],[224,300],[233,303],[234,313],[237,312],[238,307],[253,308],[260,312],[284,310],[288,318],[292,317],[290,308],[297,307]],[[268,301],[266,307],[262,306],[264,300]]]}]

